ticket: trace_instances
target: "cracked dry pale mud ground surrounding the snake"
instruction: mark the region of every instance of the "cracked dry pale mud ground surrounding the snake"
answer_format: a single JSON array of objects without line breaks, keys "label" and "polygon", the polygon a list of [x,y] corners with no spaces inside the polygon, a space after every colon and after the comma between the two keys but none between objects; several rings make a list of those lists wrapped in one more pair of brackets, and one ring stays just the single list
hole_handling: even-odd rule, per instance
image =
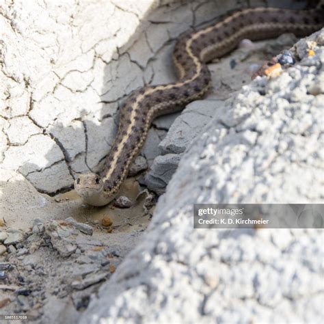
[{"label": "cracked dry pale mud ground surrounding the snake", "polygon": [[[75,191],[67,191],[73,179],[103,165],[118,107],[131,91],[176,79],[171,60],[176,37],[229,9],[260,4],[167,2],[0,5],[0,314],[76,323],[90,295],[141,241],[155,193],[165,191],[179,157],[199,135],[196,129],[211,120],[215,105],[249,83],[253,64],[295,43],[286,35],[210,64],[207,100],[153,122],[141,150],[144,161],[133,167],[120,193],[133,206],[82,206]],[[139,195],[146,187],[153,193]],[[105,228],[101,221],[107,215],[112,225]],[[12,241],[6,243],[8,236]]]}]

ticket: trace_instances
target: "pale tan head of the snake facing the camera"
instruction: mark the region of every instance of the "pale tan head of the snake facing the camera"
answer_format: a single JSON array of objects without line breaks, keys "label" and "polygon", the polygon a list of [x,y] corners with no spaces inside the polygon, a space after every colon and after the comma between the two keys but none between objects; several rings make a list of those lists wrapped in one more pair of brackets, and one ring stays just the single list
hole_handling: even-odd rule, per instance
[{"label": "pale tan head of the snake facing the camera", "polygon": [[75,191],[87,204],[103,206],[103,180],[97,174],[80,174],[75,179]]}]

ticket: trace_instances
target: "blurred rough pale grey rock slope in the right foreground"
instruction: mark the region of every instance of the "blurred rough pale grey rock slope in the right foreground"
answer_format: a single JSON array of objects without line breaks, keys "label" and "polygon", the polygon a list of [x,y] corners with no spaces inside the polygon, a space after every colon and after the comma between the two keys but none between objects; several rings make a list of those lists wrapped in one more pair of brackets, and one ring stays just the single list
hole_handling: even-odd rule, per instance
[{"label": "blurred rough pale grey rock slope in the right foreground", "polygon": [[323,230],[194,230],[192,219],[195,202],[323,202],[323,36],[226,101],[81,323],[323,321]]}]

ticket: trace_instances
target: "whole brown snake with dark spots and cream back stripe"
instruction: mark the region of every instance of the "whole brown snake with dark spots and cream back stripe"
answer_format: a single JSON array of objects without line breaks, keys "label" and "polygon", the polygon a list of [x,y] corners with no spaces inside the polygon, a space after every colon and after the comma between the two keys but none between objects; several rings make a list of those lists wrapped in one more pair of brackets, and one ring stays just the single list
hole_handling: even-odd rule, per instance
[{"label": "whole brown snake with dark spots and cream back stripe", "polygon": [[98,173],[79,174],[75,179],[75,190],[83,202],[105,206],[116,198],[146,140],[152,120],[183,109],[208,92],[211,72],[206,64],[212,59],[230,53],[245,38],[264,40],[286,32],[303,37],[323,25],[323,8],[245,8],[213,25],[183,33],[176,40],[172,55],[177,81],[145,85],[129,95],[120,108],[117,135],[103,169]]}]

